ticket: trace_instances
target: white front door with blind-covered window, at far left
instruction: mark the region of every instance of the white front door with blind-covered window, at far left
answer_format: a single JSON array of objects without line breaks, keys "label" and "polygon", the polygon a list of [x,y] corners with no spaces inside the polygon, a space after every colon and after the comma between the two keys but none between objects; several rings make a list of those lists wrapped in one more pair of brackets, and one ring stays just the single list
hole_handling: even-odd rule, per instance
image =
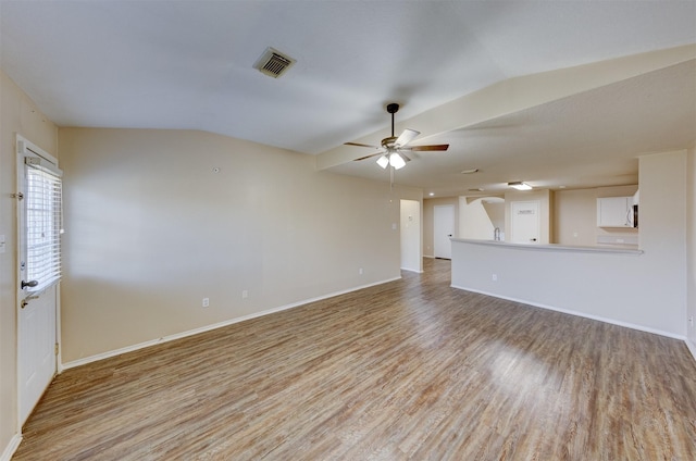
[{"label": "white front door with blind-covered window, at far left", "polygon": [[20,427],[57,370],[61,179],[50,154],[17,136],[17,374]]}]

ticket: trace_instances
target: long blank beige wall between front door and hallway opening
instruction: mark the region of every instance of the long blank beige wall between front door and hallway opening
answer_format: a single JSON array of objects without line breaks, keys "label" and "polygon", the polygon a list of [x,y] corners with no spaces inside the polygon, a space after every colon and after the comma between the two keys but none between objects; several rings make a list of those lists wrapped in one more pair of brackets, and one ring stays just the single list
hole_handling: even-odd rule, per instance
[{"label": "long blank beige wall between front door and hallway opening", "polygon": [[400,276],[388,184],[201,132],[59,139],[64,362]]}]

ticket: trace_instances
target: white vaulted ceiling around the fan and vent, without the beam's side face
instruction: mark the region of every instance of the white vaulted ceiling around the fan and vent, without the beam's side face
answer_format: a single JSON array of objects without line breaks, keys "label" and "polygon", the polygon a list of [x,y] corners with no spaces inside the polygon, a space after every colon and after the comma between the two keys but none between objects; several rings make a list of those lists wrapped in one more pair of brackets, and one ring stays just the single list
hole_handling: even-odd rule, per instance
[{"label": "white vaulted ceiling around the fan and vent, without the beam's side face", "polygon": [[[512,77],[696,43],[696,1],[0,0],[0,27],[2,70],[60,126],[321,154],[378,144],[391,101],[408,121]],[[277,79],[252,67],[269,46],[297,60]],[[635,184],[636,155],[693,145],[695,87],[692,60],[418,139],[450,149],[396,182],[437,196]],[[328,170],[388,180],[369,160]]]}]

